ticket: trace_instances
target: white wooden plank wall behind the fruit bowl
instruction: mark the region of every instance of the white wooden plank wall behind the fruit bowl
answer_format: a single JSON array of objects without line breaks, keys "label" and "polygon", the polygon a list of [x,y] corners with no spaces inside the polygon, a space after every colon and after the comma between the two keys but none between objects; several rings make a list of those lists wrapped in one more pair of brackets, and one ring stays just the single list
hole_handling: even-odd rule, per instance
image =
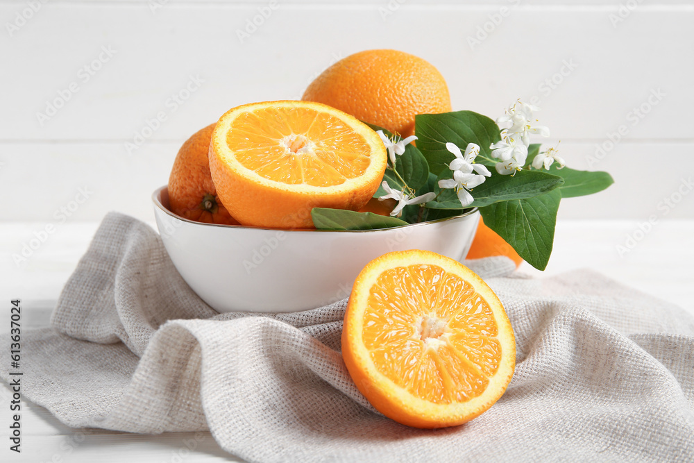
[{"label": "white wooden plank wall behind the fruit bowl", "polygon": [[52,222],[69,205],[71,221],[151,219],[149,196],[191,133],[240,103],[298,98],[335,60],[374,48],[432,62],[457,110],[496,117],[535,96],[570,165],[616,180],[564,201],[560,218],[692,218],[694,194],[667,214],[662,201],[694,174],[694,5],[620,1],[0,0],[0,221]]}]

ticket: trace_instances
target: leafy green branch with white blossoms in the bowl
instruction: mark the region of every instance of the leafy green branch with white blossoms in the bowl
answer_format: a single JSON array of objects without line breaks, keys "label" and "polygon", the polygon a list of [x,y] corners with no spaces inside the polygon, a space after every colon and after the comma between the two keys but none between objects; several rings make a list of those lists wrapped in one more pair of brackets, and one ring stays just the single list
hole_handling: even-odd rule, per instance
[{"label": "leafy green branch with white blossoms in the bowl", "polygon": [[[520,105],[519,108],[516,109],[514,105],[507,111],[507,116],[500,119],[506,118],[511,124],[516,124],[514,121],[518,118],[513,118],[514,110],[523,115],[523,111],[532,109],[523,103],[517,104]],[[525,127],[511,125],[510,129],[502,129],[489,117],[472,111],[457,111],[418,115],[415,124],[416,146],[409,143],[400,146],[399,151],[402,151],[402,154],[389,153],[389,158],[394,159],[394,162],[389,162],[383,176],[388,190],[396,192],[396,196],[400,193],[398,197],[403,207],[395,214],[398,217],[371,212],[314,208],[312,217],[316,228],[391,228],[443,217],[456,217],[470,208],[479,208],[486,226],[505,239],[533,267],[545,269],[552,253],[557,210],[561,199],[597,193],[613,183],[607,172],[579,171],[564,167],[563,160],[556,156],[552,149],[541,151],[541,145],[527,144],[527,131],[541,134],[546,131],[546,128],[530,126],[530,123]],[[369,126],[374,131],[382,131],[389,142],[385,143],[384,140],[386,146],[398,143],[403,145],[403,140],[397,135],[378,126]],[[516,138],[509,135],[511,129],[514,129]],[[519,140],[523,140],[525,148]],[[455,144],[461,152],[465,151],[469,144],[475,144],[479,151],[475,151],[476,155],[468,156],[469,159],[461,160],[460,153],[455,155],[447,148],[447,143]],[[492,145],[499,151],[493,149]],[[503,150],[512,153],[511,158],[499,158],[499,153]],[[535,165],[540,165],[540,168],[533,165],[537,156],[541,158]],[[457,164],[452,164],[456,159]],[[551,162],[551,165],[545,168],[539,161]],[[475,168],[473,172],[471,167],[474,167],[475,162],[489,169]],[[470,172],[467,174],[468,177],[459,175],[458,179],[471,178],[471,175],[478,175],[479,172],[486,172],[486,176],[476,179],[474,183],[452,182],[455,177],[453,167],[458,166],[462,166],[459,171]],[[507,175],[503,175],[502,172]],[[445,187],[454,183],[455,188]],[[441,187],[441,184],[444,187]],[[461,194],[462,189],[464,194]],[[373,196],[382,198],[387,195],[387,189],[380,186]],[[463,205],[460,198],[469,200],[470,196],[471,201]],[[390,197],[393,197],[392,193]],[[406,199],[415,201],[417,198],[428,201],[421,204],[403,203]]]}]

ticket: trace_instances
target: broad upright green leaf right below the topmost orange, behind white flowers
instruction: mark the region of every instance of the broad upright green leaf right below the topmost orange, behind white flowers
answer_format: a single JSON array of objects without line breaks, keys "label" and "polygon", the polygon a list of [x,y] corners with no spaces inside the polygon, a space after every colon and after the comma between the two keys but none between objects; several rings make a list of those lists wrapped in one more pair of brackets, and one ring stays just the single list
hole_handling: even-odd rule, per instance
[{"label": "broad upright green leaf right below the topmost orange, behind white flowers", "polygon": [[[443,114],[423,114],[415,117],[417,147],[429,162],[429,170],[441,174],[455,155],[446,149],[446,142],[456,144],[465,151],[468,143],[480,145],[477,162],[494,165],[491,158],[491,144],[501,140],[499,127],[489,117],[472,111],[444,112]],[[489,159],[484,159],[489,158]]]}]

